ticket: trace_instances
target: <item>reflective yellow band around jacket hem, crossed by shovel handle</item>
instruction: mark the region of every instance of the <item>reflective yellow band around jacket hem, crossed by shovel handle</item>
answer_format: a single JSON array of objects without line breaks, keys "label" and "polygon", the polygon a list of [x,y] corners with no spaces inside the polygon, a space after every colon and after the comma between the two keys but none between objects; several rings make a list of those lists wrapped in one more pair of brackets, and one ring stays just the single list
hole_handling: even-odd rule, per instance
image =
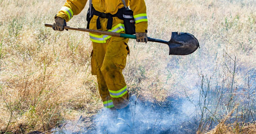
[{"label": "reflective yellow band around jacket hem, crossed by shovel handle", "polygon": [[[108,31],[120,33],[122,31],[125,31],[125,27],[124,27],[124,24],[119,23],[115,27],[112,27],[112,29],[110,29]],[[96,43],[106,43],[106,40],[111,37],[111,36],[104,35],[104,34],[97,35],[97,34],[89,33],[89,35],[90,35],[91,41],[96,42]]]}]

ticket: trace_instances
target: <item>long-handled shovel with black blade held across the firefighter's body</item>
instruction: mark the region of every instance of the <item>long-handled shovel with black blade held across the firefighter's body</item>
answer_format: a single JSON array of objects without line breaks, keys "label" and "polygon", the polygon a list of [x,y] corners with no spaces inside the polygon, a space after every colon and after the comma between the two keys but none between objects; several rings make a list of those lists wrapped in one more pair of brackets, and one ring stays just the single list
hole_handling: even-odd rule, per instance
[{"label": "long-handled shovel with black blade held across the firefighter's body", "polygon": [[[45,24],[45,26],[52,27],[53,25]],[[115,32],[99,31],[99,30],[79,28],[79,27],[68,27],[68,26],[65,26],[64,28],[76,30],[76,31],[83,31],[83,32],[100,33],[100,34],[105,34],[105,35],[115,36],[115,37],[136,39],[136,36],[132,34],[115,33]],[[164,41],[162,39],[155,39],[150,37],[147,37],[147,39],[150,42],[159,42],[159,43],[168,44],[169,55],[188,55],[195,52],[196,49],[198,49],[199,47],[198,39],[196,39],[192,34],[184,33],[184,32],[171,32],[170,41]]]}]

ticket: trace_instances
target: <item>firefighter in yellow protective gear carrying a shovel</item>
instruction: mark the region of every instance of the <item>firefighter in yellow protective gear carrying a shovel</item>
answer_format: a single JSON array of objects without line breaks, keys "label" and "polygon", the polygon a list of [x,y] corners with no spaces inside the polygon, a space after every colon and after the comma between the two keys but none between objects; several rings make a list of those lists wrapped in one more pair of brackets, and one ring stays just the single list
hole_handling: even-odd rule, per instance
[{"label": "firefighter in yellow protective gear carrying a shovel", "polygon": [[[124,27],[120,19],[120,11],[129,7],[135,19],[135,35],[137,42],[147,42],[147,16],[144,0],[89,0],[87,28],[101,31],[125,33],[129,28]],[[67,0],[55,16],[53,29],[63,31],[66,22],[79,14],[87,0]],[[104,107],[125,109],[129,105],[129,93],[122,75],[129,54],[127,45],[129,39],[111,37],[90,33],[92,41],[91,69],[92,75],[97,76],[100,96]]]}]

